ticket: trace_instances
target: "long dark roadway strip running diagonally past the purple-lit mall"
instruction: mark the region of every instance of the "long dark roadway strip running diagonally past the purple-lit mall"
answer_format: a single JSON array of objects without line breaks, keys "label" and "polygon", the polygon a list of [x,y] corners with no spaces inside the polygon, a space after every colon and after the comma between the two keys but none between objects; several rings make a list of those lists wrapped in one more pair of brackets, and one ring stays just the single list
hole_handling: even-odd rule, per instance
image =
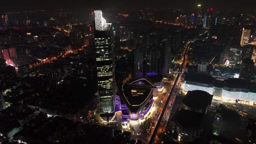
[{"label": "long dark roadway strip running diagonally past the purple-lit mall", "polygon": [[154,139],[155,139],[155,137],[156,137],[156,134],[157,134],[157,132],[158,132],[158,128],[159,128],[160,123],[161,123],[161,121],[162,121],[162,119],[163,119],[165,110],[166,110],[166,108],[167,108],[167,106],[168,106],[168,104],[169,104],[169,101],[170,101],[170,99],[171,99],[171,96],[173,95],[173,91],[174,91],[174,89],[175,89],[175,87],[176,87],[177,81],[178,81],[179,78],[180,78],[180,74],[182,73],[183,66],[184,66],[184,63],[185,63],[186,51],[187,51],[187,49],[188,49],[190,43],[191,43],[191,42],[194,42],[196,39],[198,39],[199,37],[204,36],[205,34],[207,34],[207,32],[205,32],[205,33],[203,33],[203,34],[200,34],[200,35],[199,35],[198,37],[196,37],[195,39],[190,40],[188,43],[186,43],[186,45],[185,45],[185,50],[184,50],[183,56],[182,56],[182,65],[180,66],[180,69],[179,69],[179,71],[178,71],[177,77],[176,77],[176,79],[175,79],[175,81],[174,81],[173,87],[172,87],[172,89],[171,89],[171,91],[170,91],[170,94],[169,94],[169,96],[168,96],[168,98],[167,98],[167,101],[165,102],[165,105],[164,105],[163,111],[162,111],[162,113],[161,113],[161,115],[160,115],[160,117],[159,117],[159,120],[158,120],[158,122],[156,123],[156,126],[155,126],[155,129],[154,129],[154,131],[153,131],[153,134],[152,134],[152,136],[151,136],[151,138],[150,138],[150,140],[149,140],[149,144],[153,144],[153,141],[154,141]]}]

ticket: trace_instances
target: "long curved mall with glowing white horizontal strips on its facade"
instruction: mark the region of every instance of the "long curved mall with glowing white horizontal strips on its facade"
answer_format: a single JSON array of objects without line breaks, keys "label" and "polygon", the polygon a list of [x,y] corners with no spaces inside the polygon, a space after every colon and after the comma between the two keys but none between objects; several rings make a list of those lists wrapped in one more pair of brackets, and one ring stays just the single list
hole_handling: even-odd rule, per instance
[{"label": "long curved mall with glowing white horizontal strips on its facade", "polygon": [[256,105],[256,85],[237,78],[215,80],[212,76],[187,74],[183,83],[183,93],[193,90],[206,91],[213,95],[213,102],[230,102]]}]

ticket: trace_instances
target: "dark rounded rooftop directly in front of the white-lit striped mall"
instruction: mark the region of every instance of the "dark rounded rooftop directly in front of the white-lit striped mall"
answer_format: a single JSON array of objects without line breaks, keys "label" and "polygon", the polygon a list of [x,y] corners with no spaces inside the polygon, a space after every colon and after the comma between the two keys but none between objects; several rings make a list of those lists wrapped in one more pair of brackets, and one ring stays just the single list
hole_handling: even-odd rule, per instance
[{"label": "dark rounded rooftop directly in front of the white-lit striped mall", "polygon": [[201,90],[188,91],[183,99],[183,104],[192,109],[204,109],[211,104],[212,99],[213,95],[208,92]]}]

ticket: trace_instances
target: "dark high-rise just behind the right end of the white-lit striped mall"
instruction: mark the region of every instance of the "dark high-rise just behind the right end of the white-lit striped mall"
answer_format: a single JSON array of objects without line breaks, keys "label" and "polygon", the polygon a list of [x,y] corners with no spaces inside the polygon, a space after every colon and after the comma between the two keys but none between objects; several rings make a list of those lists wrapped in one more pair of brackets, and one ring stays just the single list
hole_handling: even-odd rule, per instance
[{"label": "dark high-rise just behind the right end of the white-lit striped mall", "polygon": [[250,82],[252,79],[253,71],[253,60],[250,58],[243,59],[240,67],[239,79],[245,80],[246,82]]}]

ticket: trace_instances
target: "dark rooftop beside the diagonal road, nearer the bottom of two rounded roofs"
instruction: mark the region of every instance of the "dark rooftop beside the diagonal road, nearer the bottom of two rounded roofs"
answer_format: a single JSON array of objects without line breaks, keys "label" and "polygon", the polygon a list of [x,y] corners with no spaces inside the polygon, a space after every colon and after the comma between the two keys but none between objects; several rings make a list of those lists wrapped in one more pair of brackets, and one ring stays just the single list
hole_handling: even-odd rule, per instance
[{"label": "dark rooftop beside the diagonal road, nearer the bottom of two rounded roofs", "polygon": [[172,120],[183,129],[196,129],[201,127],[203,118],[204,114],[202,113],[181,108],[176,111]]}]

